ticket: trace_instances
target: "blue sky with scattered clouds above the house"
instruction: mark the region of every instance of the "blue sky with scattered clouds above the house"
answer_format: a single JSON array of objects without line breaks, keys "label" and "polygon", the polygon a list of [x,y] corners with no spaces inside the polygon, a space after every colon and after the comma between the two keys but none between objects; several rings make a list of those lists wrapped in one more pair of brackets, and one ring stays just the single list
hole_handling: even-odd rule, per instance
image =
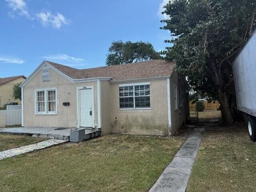
[{"label": "blue sky with scattered clouds above the house", "polygon": [[0,78],[29,76],[43,60],[78,69],[106,65],[113,41],[150,42],[168,0],[0,0]]}]

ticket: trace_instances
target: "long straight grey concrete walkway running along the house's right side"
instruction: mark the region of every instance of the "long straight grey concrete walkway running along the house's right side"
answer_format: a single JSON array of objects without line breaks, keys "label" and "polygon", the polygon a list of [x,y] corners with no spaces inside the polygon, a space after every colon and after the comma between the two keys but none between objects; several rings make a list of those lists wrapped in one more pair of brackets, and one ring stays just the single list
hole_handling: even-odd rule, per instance
[{"label": "long straight grey concrete walkway running along the house's right side", "polygon": [[149,192],[185,192],[204,128],[196,128]]}]

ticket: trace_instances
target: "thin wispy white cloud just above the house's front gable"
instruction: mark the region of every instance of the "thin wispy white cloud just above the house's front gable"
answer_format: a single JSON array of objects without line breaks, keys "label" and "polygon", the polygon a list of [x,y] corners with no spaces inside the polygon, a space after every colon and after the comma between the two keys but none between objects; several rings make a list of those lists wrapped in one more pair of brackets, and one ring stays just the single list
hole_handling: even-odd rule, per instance
[{"label": "thin wispy white cloud just above the house's front gable", "polygon": [[72,56],[68,56],[66,54],[57,54],[57,55],[48,55],[48,56],[43,56],[44,59],[50,60],[53,62],[61,62],[68,63],[66,65],[68,66],[85,66],[83,62],[85,62],[84,59],[82,58],[75,58]]}]

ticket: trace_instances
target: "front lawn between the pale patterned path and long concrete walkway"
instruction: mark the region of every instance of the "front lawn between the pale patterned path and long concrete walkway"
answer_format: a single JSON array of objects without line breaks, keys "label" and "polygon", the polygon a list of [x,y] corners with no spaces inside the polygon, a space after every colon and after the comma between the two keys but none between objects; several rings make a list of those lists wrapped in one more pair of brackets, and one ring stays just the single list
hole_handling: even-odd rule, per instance
[{"label": "front lawn between the pale patterned path and long concrete walkway", "polygon": [[0,189],[12,192],[145,192],[183,136],[111,134],[0,161]]}]

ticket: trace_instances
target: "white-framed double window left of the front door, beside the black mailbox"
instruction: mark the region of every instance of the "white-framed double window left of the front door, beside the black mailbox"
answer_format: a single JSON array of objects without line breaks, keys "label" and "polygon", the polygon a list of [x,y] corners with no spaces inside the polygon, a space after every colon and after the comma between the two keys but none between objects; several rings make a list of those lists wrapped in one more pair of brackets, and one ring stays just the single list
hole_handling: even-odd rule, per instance
[{"label": "white-framed double window left of the front door, beside the black mailbox", "polygon": [[57,89],[35,90],[35,114],[57,114]]}]

